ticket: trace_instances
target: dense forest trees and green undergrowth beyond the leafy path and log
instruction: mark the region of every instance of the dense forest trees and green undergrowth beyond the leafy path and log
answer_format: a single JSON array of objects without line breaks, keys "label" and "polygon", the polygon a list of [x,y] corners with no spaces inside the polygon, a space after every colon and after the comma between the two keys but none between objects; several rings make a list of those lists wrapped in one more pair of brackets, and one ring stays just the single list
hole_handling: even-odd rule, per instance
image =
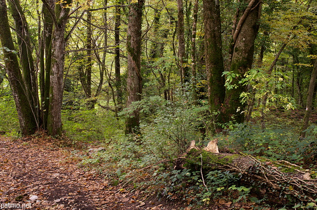
[{"label": "dense forest trees and green undergrowth beyond the leafy path and log", "polygon": [[82,164],[120,179],[192,140],[316,169],[315,0],[0,0],[0,41],[2,134],[98,141]]}]

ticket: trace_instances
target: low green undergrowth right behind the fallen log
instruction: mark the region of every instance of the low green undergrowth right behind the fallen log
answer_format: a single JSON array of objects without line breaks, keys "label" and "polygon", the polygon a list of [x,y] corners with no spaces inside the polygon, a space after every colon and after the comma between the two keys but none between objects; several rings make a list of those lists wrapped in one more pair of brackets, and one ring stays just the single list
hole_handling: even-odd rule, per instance
[{"label": "low green undergrowth right behind the fallen log", "polygon": [[250,155],[298,163],[315,156],[316,130],[316,127],[310,127],[308,137],[299,139],[293,131],[285,128],[262,130],[251,123],[235,124],[228,131],[227,141],[231,144],[227,146]]}]

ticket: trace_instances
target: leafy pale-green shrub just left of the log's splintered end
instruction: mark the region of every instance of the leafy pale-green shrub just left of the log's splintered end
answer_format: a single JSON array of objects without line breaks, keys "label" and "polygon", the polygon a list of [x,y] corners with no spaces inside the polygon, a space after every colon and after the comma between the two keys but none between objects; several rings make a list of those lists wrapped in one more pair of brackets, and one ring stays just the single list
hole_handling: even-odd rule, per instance
[{"label": "leafy pale-green shrub just left of the log's splintered end", "polygon": [[204,113],[209,109],[208,105],[193,105],[188,95],[175,102],[149,97],[133,103],[120,115],[140,110],[143,144],[159,157],[175,157],[185,152],[190,141],[199,139],[198,129],[204,126]]}]

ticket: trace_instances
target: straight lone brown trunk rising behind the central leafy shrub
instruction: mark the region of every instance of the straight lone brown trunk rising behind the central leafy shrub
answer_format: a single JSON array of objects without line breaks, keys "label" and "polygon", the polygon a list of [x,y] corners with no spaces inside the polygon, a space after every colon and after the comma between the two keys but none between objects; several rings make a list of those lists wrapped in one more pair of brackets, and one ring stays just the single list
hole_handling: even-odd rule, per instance
[{"label": "straight lone brown trunk rising behind the central leafy shrub", "polygon": [[[128,78],[127,78],[127,103],[129,107],[132,102],[141,100],[142,77],[141,77],[141,27],[142,10],[144,0],[130,2],[128,21]],[[125,123],[125,133],[139,133],[140,114],[139,110],[134,110],[127,116]]]}]

